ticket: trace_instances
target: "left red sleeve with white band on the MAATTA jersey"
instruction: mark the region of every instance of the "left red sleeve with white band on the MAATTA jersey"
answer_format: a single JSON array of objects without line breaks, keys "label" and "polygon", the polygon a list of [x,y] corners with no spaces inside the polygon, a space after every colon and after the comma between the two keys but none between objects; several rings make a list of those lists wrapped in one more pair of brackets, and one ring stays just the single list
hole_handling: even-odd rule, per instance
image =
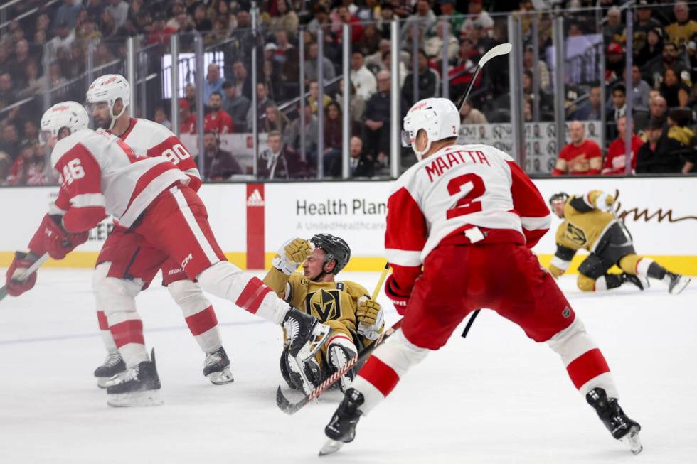
[{"label": "left red sleeve with white band on the MAATTA jersey", "polygon": [[426,218],[404,186],[390,195],[387,208],[385,255],[395,283],[408,295],[421,274],[421,252],[428,238]]}]

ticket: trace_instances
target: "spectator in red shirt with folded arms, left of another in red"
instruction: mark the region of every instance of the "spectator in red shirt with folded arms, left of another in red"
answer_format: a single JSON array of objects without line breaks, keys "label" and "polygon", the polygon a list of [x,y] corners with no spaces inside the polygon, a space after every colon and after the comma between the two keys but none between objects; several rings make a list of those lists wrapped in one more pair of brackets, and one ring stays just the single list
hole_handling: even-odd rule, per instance
[{"label": "spectator in red shirt with folded arms, left of another in red", "polygon": [[602,153],[594,141],[585,139],[585,128],[578,121],[569,124],[571,143],[559,152],[552,176],[600,174]]}]

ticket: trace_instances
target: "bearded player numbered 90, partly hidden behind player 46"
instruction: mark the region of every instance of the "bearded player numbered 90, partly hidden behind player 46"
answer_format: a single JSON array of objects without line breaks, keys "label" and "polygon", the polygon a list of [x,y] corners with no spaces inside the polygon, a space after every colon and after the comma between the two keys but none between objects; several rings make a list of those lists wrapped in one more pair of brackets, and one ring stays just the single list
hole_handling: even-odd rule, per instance
[{"label": "bearded player numbered 90, partly hidden behind player 46", "polygon": [[[97,127],[118,136],[139,156],[164,156],[189,177],[188,186],[198,191],[201,187],[201,175],[193,156],[188,153],[179,137],[165,126],[148,119],[130,117],[130,93],[129,82],[122,75],[107,74],[97,77],[92,82],[87,90],[87,107]],[[97,384],[102,388],[107,387],[112,376],[126,369],[118,348],[127,343],[128,338],[120,337],[119,333],[129,328],[125,323],[110,327],[98,297],[107,276],[123,277],[118,274],[119,270],[112,269],[111,264],[114,253],[119,248],[119,241],[126,233],[126,227],[115,223],[97,257],[92,283],[97,297],[97,322],[107,349],[104,364],[95,370]],[[143,281],[145,286],[149,276],[143,275],[143,271],[149,269],[150,265],[143,262],[143,259],[146,258],[140,255],[135,257],[127,269],[127,275],[134,281]],[[178,262],[169,259],[161,271],[162,284],[167,287],[169,294],[181,308],[191,335],[206,355],[203,375],[216,385],[233,382],[230,360],[220,339],[218,319],[211,301],[208,301],[201,287],[186,276]]]}]

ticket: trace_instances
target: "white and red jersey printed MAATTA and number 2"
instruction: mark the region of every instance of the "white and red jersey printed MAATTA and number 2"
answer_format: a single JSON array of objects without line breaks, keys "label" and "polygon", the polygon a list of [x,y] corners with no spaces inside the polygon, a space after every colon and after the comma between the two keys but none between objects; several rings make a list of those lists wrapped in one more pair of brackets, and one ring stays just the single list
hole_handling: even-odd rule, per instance
[{"label": "white and red jersey printed MAATTA and number 2", "polygon": [[508,230],[506,241],[533,247],[550,222],[545,200],[511,156],[488,145],[451,145],[395,182],[385,253],[390,264],[415,271],[453,234],[486,243],[487,230]]}]

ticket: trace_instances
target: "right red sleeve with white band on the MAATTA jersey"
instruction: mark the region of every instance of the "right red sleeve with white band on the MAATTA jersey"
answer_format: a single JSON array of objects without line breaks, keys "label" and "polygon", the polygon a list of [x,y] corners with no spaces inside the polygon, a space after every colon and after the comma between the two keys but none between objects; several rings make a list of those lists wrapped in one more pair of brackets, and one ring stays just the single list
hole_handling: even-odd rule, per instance
[{"label": "right red sleeve with white band on the MAATTA jersey", "polygon": [[511,169],[513,207],[521,217],[526,247],[532,248],[549,230],[552,223],[552,213],[542,198],[540,190],[521,167],[515,161],[507,163]]}]

